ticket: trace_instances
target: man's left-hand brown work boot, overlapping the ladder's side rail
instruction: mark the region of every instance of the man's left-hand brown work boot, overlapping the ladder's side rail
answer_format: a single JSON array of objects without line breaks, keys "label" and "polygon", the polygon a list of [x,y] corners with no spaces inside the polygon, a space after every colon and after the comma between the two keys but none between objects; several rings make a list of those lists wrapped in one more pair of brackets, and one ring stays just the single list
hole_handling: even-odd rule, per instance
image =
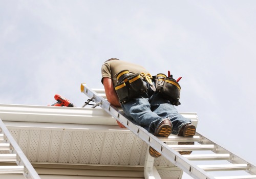
[{"label": "man's left-hand brown work boot, overlapping the ladder's side rail", "polygon": [[[165,119],[157,127],[154,136],[167,138],[170,133],[172,133],[172,123],[170,122],[170,120]],[[161,156],[161,154],[152,147],[150,147],[149,152],[150,155],[154,158],[158,158],[159,156]]]}]

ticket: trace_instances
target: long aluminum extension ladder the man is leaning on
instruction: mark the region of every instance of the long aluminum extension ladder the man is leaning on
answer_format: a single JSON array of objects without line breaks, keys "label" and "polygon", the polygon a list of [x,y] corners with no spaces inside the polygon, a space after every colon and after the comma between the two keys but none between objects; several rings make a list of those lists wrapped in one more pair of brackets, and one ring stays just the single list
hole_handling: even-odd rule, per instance
[{"label": "long aluminum extension ladder the man is leaning on", "polygon": [[[102,97],[104,96],[103,90],[96,93],[82,83],[81,92],[90,98],[85,105],[93,101],[95,103],[92,106],[93,108],[96,106],[103,108],[137,137],[193,178],[256,178],[256,166],[254,164],[245,161],[198,132],[194,137],[169,136],[168,138],[157,138],[143,127],[125,118],[121,110]],[[196,142],[197,145],[173,145],[174,142]],[[181,155],[178,151],[194,151],[198,154]],[[210,162],[210,164],[198,165],[197,162],[203,164]],[[216,164],[217,162],[220,162],[220,164]],[[215,174],[218,175],[214,176]]]}]

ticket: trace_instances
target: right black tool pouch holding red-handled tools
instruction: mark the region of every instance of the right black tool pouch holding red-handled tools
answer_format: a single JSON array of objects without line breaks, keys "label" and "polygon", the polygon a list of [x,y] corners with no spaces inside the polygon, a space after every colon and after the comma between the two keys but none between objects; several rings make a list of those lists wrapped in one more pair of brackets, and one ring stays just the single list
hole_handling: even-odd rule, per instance
[{"label": "right black tool pouch holding red-handled tools", "polygon": [[173,105],[180,105],[180,85],[172,77],[159,73],[155,79],[156,91]]}]

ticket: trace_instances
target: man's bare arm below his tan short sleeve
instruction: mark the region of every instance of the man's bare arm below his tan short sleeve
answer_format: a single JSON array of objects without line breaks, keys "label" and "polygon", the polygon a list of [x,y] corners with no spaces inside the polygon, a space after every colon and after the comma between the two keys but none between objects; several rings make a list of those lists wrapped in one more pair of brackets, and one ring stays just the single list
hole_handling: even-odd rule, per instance
[{"label": "man's bare arm below his tan short sleeve", "polygon": [[[114,106],[121,106],[121,104],[119,103],[119,99],[118,99],[118,96],[116,94],[115,87],[114,87],[114,84],[112,82],[112,79],[108,78],[108,77],[104,77],[102,82],[103,82],[103,85],[104,85],[104,88],[105,88],[106,99],[108,99],[110,104],[112,104]],[[119,121],[116,120],[116,122],[119,125],[119,127],[126,128]]]}]

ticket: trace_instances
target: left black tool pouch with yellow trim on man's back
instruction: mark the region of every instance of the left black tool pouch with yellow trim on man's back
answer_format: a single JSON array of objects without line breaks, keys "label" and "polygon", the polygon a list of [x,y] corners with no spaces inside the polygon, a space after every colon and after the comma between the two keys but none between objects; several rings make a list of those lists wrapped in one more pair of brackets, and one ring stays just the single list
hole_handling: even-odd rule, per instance
[{"label": "left black tool pouch with yellow trim on man's back", "polygon": [[117,75],[115,90],[120,103],[126,103],[136,96],[145,93],[147,87],[139,73],[132,74],[123,70]]}]

